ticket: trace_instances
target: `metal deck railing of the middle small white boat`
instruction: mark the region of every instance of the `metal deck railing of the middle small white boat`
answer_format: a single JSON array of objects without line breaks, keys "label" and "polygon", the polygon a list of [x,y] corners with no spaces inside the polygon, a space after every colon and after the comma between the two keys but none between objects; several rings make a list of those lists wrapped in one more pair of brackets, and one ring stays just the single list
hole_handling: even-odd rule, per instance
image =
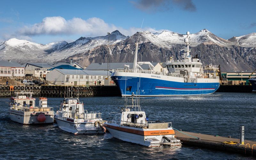
[{"label": "metal deck railing of the middle small white boat", "polygon": [[69,117],[70,116],[69,118],[73,118],[73,119],[95,119],[95,118],[101,119],[101,113],[97,113],[97,112],[72,113],[72,112],[63,111],[62,116],[63,117]]}]

